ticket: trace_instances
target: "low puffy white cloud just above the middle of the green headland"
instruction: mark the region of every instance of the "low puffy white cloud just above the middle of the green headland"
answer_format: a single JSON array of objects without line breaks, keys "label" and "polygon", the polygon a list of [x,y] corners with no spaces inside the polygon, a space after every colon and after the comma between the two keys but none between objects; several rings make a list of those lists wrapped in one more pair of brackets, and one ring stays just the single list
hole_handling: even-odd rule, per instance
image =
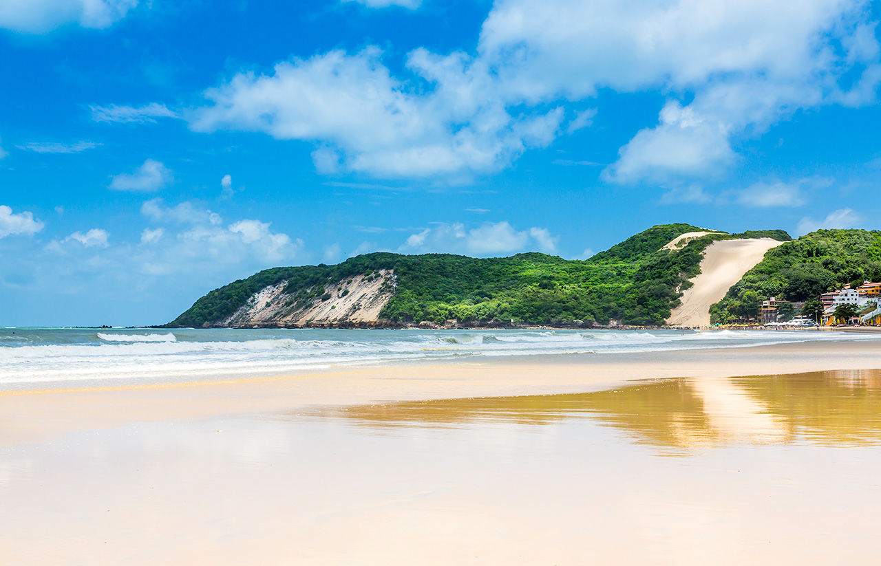
[{"label": "low puffy white cloud just above the middle of the green headland", "polygon": [[398,251],[468,255],[515,254],[527,249],[555,254],[559,237],[546,228],[517,231],[507,221],[485,223],[467,230],[464,224],[436,224],[412,234]]}]

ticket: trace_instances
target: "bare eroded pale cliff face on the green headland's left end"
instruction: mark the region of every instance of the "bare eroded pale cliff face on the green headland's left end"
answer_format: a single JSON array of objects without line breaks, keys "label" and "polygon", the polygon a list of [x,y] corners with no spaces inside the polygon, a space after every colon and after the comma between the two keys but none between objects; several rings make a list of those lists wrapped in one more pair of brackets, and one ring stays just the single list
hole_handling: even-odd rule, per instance
[{"label": "bare eroded pale cliff face on the green headland's left end", "polygon": [[[320,289],[285,293],[287,282],[263,287],[216,327],[322,327],[380,323],[382,308],[395,294],[391,269],[352,276]],[[312,297],[309,297],[309,295]]]}]

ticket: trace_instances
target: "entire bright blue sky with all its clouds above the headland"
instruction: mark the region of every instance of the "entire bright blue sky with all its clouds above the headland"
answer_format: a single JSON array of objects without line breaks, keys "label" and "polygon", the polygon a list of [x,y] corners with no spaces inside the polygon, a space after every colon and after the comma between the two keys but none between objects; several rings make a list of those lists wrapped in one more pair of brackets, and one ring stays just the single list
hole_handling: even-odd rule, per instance
[{"label": "entire bright blue sky with all its clouds above the headland", "polygon": [[0,326],[374,251],[881,228],[881,3],[4,0]]}]

